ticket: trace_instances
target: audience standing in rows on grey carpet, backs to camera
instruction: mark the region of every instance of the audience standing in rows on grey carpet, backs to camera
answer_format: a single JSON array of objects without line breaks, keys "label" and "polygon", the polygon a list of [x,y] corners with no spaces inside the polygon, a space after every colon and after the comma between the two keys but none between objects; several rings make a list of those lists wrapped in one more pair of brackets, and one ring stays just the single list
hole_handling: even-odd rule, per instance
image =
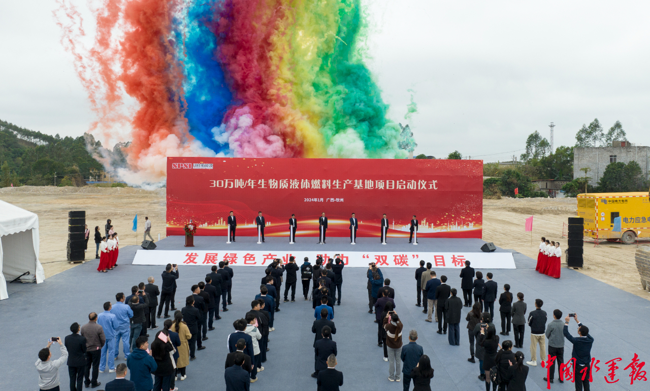
[{"label": "audience standing in rows on grey carpet, backs to camera", "polygon": [[[433,323],[435,320],[438,323],[436,333],[447,334],[451,346],[460,346],[463,307],[470,308],[465,314],[471,355],[467,360],[474,364],[478,359],[478,379],[485,382],[486,390],[490,387],[493,390],[525,390],[528,366],[538,365],[538,347],[540,361],[547,360],[547,351],[555,357],[549,377],[544,380],[553,383],[557,367],[558,381],[563,383],[560,365],[564,363],[565,340],[573,344],[571,356],[575,359],[575,373],[587,374],[586,381],[580,376],[575,378],[576,389],[589,390],[593,338],[588,328],[578,322],[576,314],[566,316],[562,324],[563,314],[556,309],[553,320],[547,322],[543,301],[536,299],[535,309],[526,315],[523,293],[517,293],[515,301],[510,285],[504,284],[499,295],[499,285],[493,280],[493,274],[486,273],[487,281],[484,281],[483,273],[475,271],[470,264],[465,262],[459,276],[461,298],[446,275],[438,278],[432,264],[425,266],[421,261],[420,268],[415,271],[416,305],[425,307],[422,310],[426,314],[424,321]],[[234,331],[227,336],[224,372],[227,391],[250,390],[250,383],[255,383],[258,374],[265,370],[263,364],[270,351],[268,336],[275,330],[276,313],[281,311],[281,301],[295,302],[298,278],[302,281],[304,300],[312,302],[315,318],[311,327],[314,334],[314,372],[311,376],[317,379],[319,391],[339,390],[343,386],[343,373],[335,369],[338,352],[333,340],[337,333],[335,307],[341,305],[343,269],[344,262],[339,255],[327,260],[318,257],[314,265],[307,257],[300,266],[294,257],[286,264],[276,259],[268,265],[259,294],[251,297],[250,310],[242,318],[233,320]],[[228,311],[227,306],[232,304],[233,277],[233,269],[227,262],[212,266],[204,281],[190,286],[191,294],[185,297],[182,309],[174,306],[179,271],[173,264],[162,271],[160,288],[152,276],[147,284],[141,282],[133,286],[129,296],[122,292],[116,294],[114,302],[103,304],[103,312],[90,312],[88,323],[83,326],[73,323],[71,334],[64,341],[52,338],[38,353],[36,370],[40,389],[59,391],[59,368],[66,362],[71,391],[81,391],[83,385],[97,388],[101,385],[98,373],[106,370],[116,373],[116,379],[105,385],[107,391],[177,391],[177,382],[187,378],[187,367],[196,359],[196,352],[205,349],[203,342],[209,339],[207,332],[215,329],[214,321],[222,318],[220,312]],[[283,283],[285,289],[281,297]],[[388,362],[388,380],[402,382],[405,391],[409,390],[411,381],[415,391],[431,390],[434,377],[431,359],[417,344],[418,331],[411,329],[407,333],[404,330],[396,312],[395,288],[374,263],[370,263],[367,270],[367,290],[368,312],[374,314],[373,321],[378,327],[377,343],[382,347],[383,360]],[[497,300],[501,320],[498,334],[493,323]],[[578,323],[578,336],[568,331],[570,318]],[[160,330],[157,319],[164,319]],[[530,360],[527,362],[523,351],[513,351],[523,349],[526,325],[530,327]],[[500,336],[509,336],[511,328],[513,340],[501,341]],[[150,331],[153,338],[149,336]],[[408,334],[408,343],[403,343],[403,334]],[[118,363],[120,341],[125,363]],[[51,359],[49,351],[53,343],[61,345],[61,356],[56,360]]]}]

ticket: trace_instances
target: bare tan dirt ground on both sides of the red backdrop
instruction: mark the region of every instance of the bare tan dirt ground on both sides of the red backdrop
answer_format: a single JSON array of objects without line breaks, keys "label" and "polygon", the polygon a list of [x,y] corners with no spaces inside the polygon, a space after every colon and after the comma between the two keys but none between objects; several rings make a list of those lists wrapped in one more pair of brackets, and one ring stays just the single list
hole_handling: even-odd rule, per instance
[{"label": "bare tan dirt ground on both sides of the red backdrop", "polygon": [[[74,267],[66,260],[68,211],[86,210],[90,228],[86,259],[94,257],[93,232],[99,225],[104,233],[107,219],[112,220],[120,237],[120,246],[140,244],[144,216],[152,221],[151,236],[165,236],[165,189],[98,188],[94,186],[54,187],[21,186],[1,188],[0,199],[38,214],[40,224],[40,262],[45,277]],[[503,198],[483,200],[483,240],[504,249],[513,249],[537,259],[539,238],[562,238],[563,223],[575,216],[575,198]],[[138,215],[140,231],[134,233],[133,216]],[[532,235],[525,232],[525,219],[534,216]],[[562,246],[565,247],[565,246]],[[580,272],[631,294],[650,299],[642,290],[634,263],[636,245],[601,242],[594,247],[584,244],[584,268]],[[562,257],[565,262],[564,256]]]}]

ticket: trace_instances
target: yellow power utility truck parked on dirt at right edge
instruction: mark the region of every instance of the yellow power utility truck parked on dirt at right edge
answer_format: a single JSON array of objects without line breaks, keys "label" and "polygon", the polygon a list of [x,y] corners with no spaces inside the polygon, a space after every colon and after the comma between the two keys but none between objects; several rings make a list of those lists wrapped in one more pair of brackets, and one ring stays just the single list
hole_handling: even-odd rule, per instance
[{"label": "yellow power utility truck parked on dirt at right edge", "polygon": [[[584,236],[633,244],[650,238],[650,197],[646,192],[578,194],[578,217],[584,218]],[[621,218],[620,232],[614,219]]]}]

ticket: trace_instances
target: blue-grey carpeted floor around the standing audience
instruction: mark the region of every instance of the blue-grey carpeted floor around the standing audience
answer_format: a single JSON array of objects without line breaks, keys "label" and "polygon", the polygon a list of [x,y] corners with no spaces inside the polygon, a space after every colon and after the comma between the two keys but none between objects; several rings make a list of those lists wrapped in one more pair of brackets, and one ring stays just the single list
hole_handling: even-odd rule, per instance
[{"label": "blue-grey carpeted floor around the standing audience", "polygon": [[[313,238],[298,239],[311,242]],[[161,241],[159,248],[163,247],[164,242]],[[453,240],[443,240],[441,245],[443,242],[445,246],[454,244]],[[477,241],[477,244],[480,246],[482,242]],[[109,273],[98,273],[98,261],[93,260],[59,273],[42,284],[12,284],[9,299],[0,301],[0,322],[3,325],[0,346],[4,353],[0,355],[0,368],[3,368],[0,390],[37,390],[34,362],[38,359],[38,350],[46,345],[47,338],[66,336],[70,333],[70,324],[86,323],[89,312],[99,312],[102,303],[114,301],[116,292],[129,292],[133,284],[146,281],[149,275],[156,278],[157,284],[160,283],[160,266],[129,264],[129,259],[133,258],[137,248],[130,246],[120,249],[120,266]],[[553,309],[560,309],[564,314],[577,312],[580,320],[590,327],[590,333],[595,338],[592,356],[601,360],[601,370],[593,376],[592,390],[649,389],[643,381],[636,381],[630,386],[630,371],[623,371],[622,368],[629,364],[634,353],[638,353],[642,361],[650,359],[650,342],[645,336],[650,329],[650,301],[574,270],[563,269],[562,279],[559,280],[540,275],[534,270],[534,260],[519,253],[515,253],[515,262],[516,270],[492,270],[494,280],[499,283],[499,290],[502,290],[502,284],[509,283],[514,294],[525,294],[529,310],[534,307],[534,299],[541,298],[544,301],[543,309],[549,316]],[[197,352],[198,359],[190,362],[187,379],[177,382],[181,391],[224,389],[227,335],[233,331],[233,320],[242,317],[250,309],[250,301],[259,292],[259,280],[264,275],[262,267],[235,266],[234,269],[234,304],[229,307],[229,312],[222,313],[223,319],[216,322],[216,330],[209,331],[209,340],[204,342],[207,349]],[[185,296],[190,294],[189,287],[201,281],[208,270],[207,267],[181,266],[179,290],[176,294],[177,307],[180,308],[181,301],[184,303]],[[419,332],[418,343],[424,347],[424,353],[432,357],[435,369],[432,381],[434,390],[484,390],[484,383],[476,378],[478,361],[476,364],[467,362],[469,342],[466,322],[461,322],[461,346],[450,346],[446,335],[436,334],[437,324],[424,322],[426,316],[422,314],[421,308],[415,307],[414,270],[415,268],[383,270],[396,290],[396,311],[404,322],[404,341],[407,341],[406,335],[410,329]],[[483,271],[486,273],[489,270]],[[335,309],[334,321],[338,332],[333,339],[339,350],[337,369],[344,373],[343,390],[402,390],[401,383],[390,383],[387,380],[388,364],[382,360],[382,349],[376,344],[377,327],[372,322],[374,315],[367,313],[365,272],[364,268],[344,269],[343,302]],[[437,272],[438,275],[448,273],[450,285],[460,288],[458,270]],[[302,292],[300,286],[298,290]],[[313,310],[310,302],[300,298],[300,292],[296,303],[282,303],[280,306],[281,312],[276,315],[276,331],[270,333],[271,351],[264,364],[266,370],[259,373],[259,381],[251,385],[253,390],[316,389],[315,379],[309,377],[313,372]],[[463,309],[463,314],[467,310]],[[575,323],[571,323],[569,330],[576,334]],[[521,349],[526,360],[530,359],[527,347],[530,342],[529,331],[526,327],[526,347]],[[511,332],[510,337],[501,338],[512,339],[512,335]],[[52,348],[54,358],[59,357],[59,348],[56,346]],[[567,342],[565,360],[570,357],[571,344]],[[603,379],[607,371],[604,362],[615,357],[623,359],[619,362],[621,369],[617,370],[617,378],[621,380],[608,385]],[[534,391],[545,388],[546,384],[542,380],[544,376],[545,369],[541,366],[531,368],[526,382],[527,389]],[[99,374],[99,381],[104,385],[112,379],[114,373]],[[69,383],[65,366],[60,370],[60,380],[62,390],[67,390]],[[551,388],[573,390],[574,386],[571,383],[560,385],[556,382]]]}]

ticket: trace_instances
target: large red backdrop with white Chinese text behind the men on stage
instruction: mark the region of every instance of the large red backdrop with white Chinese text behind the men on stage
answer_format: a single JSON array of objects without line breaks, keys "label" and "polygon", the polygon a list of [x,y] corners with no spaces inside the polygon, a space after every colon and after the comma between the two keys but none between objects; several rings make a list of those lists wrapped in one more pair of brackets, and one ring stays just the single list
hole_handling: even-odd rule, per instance
[{"label": "large red backdrop with white Chinese text behind the men on stage", "polygon": [[358,237],[408,237],[411,216],[424,238],[480,238],[483,211],[481,160],[167,158],[167,234],[183,235],[192,219],[200,236],[227,236],[230,210],[237,236],[257,236],[255,217],[266,219],[265,236],[350,236],[356,213]]}]

